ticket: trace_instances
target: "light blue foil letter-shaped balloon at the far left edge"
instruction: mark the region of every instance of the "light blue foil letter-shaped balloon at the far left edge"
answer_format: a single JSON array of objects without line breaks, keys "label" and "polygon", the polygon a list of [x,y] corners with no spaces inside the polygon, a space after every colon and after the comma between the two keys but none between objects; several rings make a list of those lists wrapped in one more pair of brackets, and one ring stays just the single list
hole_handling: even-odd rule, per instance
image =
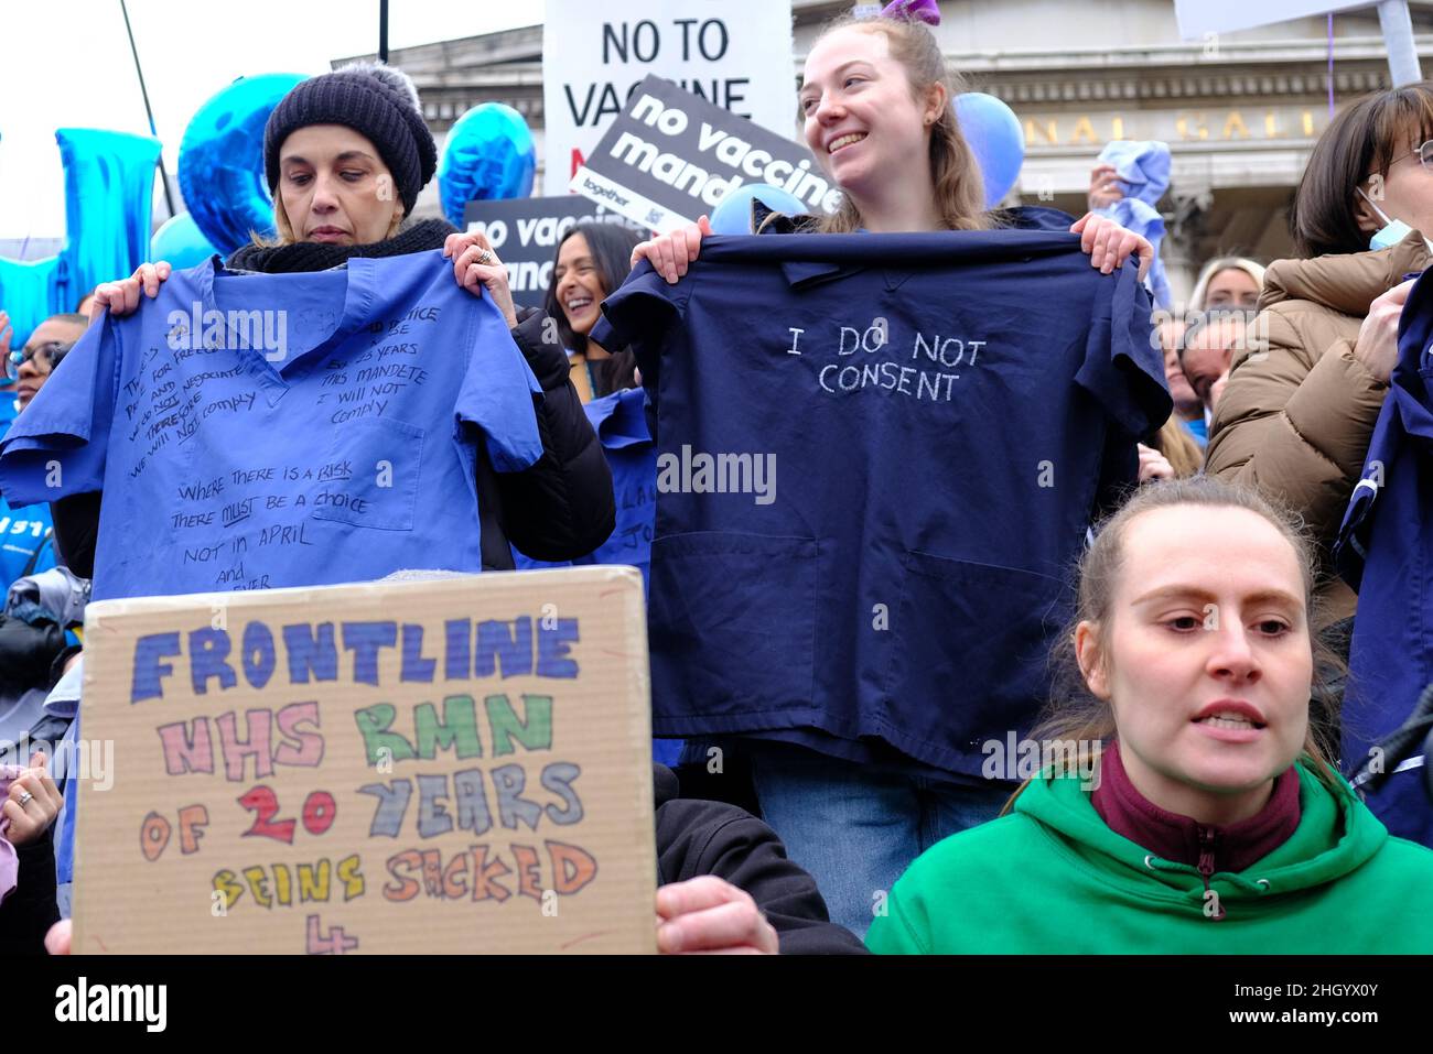
[{"label": "light blue foil letter-shaped balloon at the far left edge", "polygon": [[75,311],[100,282],[129,278],[149,256],[159,140],[126,132],[62,127],[64,248],[34,261],[0,259],[0,308],[19,348],[50,315]]}]

